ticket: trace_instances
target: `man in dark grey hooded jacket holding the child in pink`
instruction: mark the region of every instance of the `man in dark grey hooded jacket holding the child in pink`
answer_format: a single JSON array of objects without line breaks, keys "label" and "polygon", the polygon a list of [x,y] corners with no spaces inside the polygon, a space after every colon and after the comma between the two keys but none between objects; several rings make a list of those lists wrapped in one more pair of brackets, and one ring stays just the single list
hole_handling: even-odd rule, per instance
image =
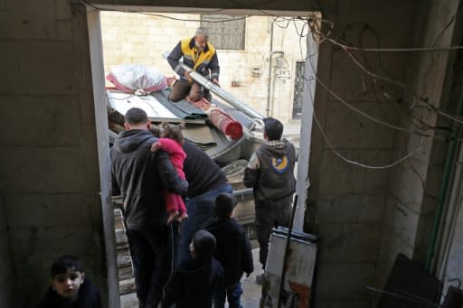
[{"label": "man in dark grey hooded jacket holding the child in pink", "polygon": [[110,151],[112,195],[122,195],[128,247],[134,266],[139,307],[156,307],[173,260],[172,229],[166,225],[163,191],[185,194],[188,183],[175,172],[164,151],[151,152],[157,138],[146,112],[131,108]]}]

